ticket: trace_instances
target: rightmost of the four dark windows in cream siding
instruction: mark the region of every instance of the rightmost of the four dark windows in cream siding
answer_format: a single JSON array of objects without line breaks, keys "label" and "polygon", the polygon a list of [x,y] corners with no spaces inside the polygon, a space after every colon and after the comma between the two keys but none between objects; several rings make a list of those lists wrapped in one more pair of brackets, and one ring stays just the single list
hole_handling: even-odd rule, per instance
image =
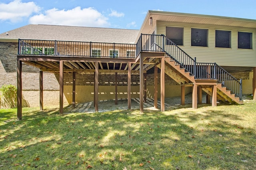
[{"label": "rightmost of the four dark windows in cream siding", "polygon": [[238,32],[238,48],[252,49],[251,32]]}]

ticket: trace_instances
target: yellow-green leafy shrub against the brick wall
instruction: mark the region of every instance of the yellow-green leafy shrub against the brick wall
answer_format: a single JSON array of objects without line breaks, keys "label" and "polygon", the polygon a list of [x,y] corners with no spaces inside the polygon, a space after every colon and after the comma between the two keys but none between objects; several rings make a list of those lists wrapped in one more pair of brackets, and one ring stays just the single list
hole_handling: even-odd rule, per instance
[{"label": "yellow-green leafy shrub against the brick wall", "polygon": [[17,105],[17,87],[14,85],[3,85],[0,88],[4,96],[3,103],[9,108],[15,108]]}]

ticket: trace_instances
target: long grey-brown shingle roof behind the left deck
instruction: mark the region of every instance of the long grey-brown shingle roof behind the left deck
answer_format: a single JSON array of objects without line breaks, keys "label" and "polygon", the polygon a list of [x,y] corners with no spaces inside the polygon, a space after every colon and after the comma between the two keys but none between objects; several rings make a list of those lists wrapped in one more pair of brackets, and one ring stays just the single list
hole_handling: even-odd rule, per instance
[{"label": "long grey-brown shingle roof behind the left deck", "polygon": [[0,34],[0,39],[134,43],[139,30],[78,26],[27,25]]}]

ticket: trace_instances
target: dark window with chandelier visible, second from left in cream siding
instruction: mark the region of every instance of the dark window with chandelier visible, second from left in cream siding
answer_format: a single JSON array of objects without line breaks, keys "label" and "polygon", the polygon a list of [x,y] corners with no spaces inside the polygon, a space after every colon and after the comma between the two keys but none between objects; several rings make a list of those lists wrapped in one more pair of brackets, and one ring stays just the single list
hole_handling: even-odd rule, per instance
[{"label": "dark window with chandelier visible, second from left in cream siding", "polygon": [[191,28],[191,46],[208,47],[208,30]]}]

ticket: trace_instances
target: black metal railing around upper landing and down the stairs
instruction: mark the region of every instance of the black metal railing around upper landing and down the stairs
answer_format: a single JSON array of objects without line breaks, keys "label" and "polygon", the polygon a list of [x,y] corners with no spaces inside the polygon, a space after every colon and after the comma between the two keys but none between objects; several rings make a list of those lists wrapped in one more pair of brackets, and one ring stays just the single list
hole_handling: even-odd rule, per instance
[{"label": "black metal railing around upper landing and down the stairs", "polygon": [[197,63],[196,57],[194,59],[190,57],[164,35],[141,34],[136,44],[136,56],[140,51],[165,52],[171,60],[193,75],[195,79],[217,79],[218,83],[242,100],[242,79],[238,81],[216,63]]}]

